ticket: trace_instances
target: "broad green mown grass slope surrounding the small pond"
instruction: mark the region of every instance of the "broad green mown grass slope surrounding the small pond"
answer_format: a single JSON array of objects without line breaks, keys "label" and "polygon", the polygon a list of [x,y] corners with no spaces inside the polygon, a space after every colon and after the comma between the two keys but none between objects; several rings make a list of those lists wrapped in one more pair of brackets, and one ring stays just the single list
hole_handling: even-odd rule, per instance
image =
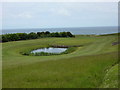
[{"label": "broad green mown grass slope surrounding the small pond", "polygon": [[[3,87],[99,87],[117,61],[116,36],[43,38],[3,43]],[[84,45],[59,56],[22,56],[48,44]]]}]

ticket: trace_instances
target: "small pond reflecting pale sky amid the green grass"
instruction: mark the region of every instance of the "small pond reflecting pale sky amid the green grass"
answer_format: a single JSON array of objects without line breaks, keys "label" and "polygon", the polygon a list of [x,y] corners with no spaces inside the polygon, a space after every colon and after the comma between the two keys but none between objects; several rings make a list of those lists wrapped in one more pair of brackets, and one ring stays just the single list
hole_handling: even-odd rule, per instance
[{"label": "small pond reflecting pale sky amid the green grass", "polygon": [[33,50],[31,53],[37,53],[37,52],[47,52],[47,53],[62,53],[65,50],[67,50],[67,48],[42,48],[42,49],[37,49],[37,50]]}]

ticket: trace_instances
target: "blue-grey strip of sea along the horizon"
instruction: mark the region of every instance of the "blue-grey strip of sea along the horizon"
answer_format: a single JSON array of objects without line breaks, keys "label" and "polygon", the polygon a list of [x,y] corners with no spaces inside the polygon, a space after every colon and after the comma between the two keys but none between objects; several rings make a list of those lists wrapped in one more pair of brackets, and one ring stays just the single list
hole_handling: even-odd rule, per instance
[{"label": "blue-grey strip of sea along the horizon", "polygon": [[80,28],[37,28],[37,29],[3,29],[2,34],[6,33],[29,33],[29,32],[63,32],[70,31],[73,34],[109,34],[117,33],[118,27],[80,27]]}]

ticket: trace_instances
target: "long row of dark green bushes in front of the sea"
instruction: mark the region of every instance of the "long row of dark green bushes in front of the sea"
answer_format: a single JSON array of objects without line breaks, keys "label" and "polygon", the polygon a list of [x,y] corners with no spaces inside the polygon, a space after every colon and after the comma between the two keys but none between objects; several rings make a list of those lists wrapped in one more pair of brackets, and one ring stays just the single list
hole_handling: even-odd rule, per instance
[{"label": "long row of dark green bushes in front of the sea", "polygon": [[27,39],[37,39],[40,37],[74,37],[70,32],[31,32],[31,33],[14,33],[14,34],[4,34],[2,35],[2,42],[27,40]]}]

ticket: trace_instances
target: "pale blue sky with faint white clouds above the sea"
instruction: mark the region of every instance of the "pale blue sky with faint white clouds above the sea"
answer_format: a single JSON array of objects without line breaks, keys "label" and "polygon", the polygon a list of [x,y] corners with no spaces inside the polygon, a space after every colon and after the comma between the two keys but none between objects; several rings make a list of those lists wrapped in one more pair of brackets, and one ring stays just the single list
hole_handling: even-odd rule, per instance
[{"label": "pale blue sky with faint white clouds above the sea", "polygon": [[3,29],[117,25],[117,2],[2,3]]}]

